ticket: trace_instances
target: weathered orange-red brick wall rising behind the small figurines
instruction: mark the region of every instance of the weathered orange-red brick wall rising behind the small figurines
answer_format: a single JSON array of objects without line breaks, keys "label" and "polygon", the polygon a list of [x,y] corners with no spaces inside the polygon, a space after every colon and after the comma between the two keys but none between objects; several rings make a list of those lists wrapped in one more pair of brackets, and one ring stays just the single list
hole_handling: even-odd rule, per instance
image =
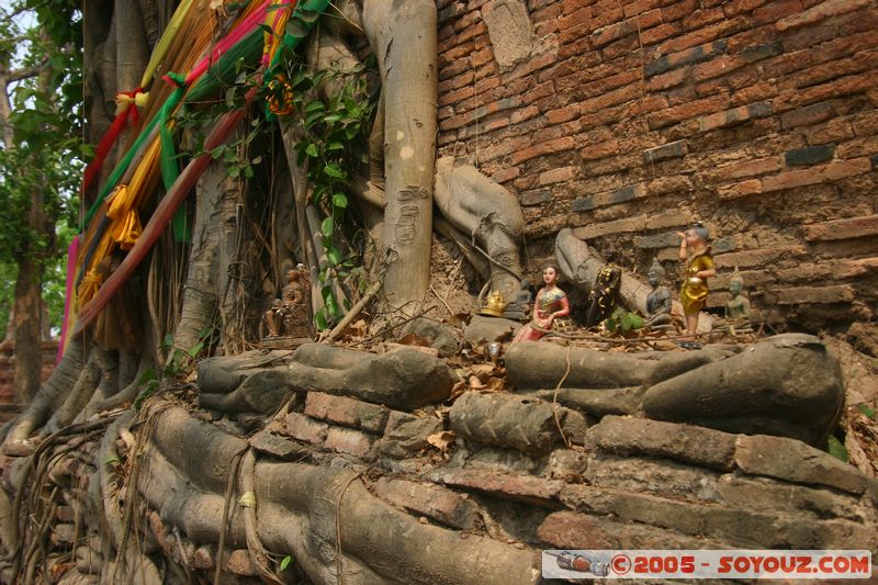
[{"label": "weathered orange-red brick wall rising behind the small figurines", "polygon": [[[532,50],[500,66],[509,32],[491,12],[516,3]],[[531,270],[570,226],[675,274],[673,233],[700,220],[711,306],[739,266],[763,314],[814,327],[878,311],[878,0],[438,7],[440,154],[519,196]]]}]

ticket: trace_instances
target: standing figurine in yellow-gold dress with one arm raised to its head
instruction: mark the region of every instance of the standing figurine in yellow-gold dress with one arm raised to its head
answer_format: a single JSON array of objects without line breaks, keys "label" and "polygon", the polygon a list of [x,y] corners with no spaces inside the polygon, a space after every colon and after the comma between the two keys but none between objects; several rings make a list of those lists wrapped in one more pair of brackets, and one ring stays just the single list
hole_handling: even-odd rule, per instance
[{"label": "standing figurine in yellow-gold dress with one arm raised to its head", "polygon": [[707,302],[707,279],[717,275],[717,269],[707,244],[710,233],[703,224],[698,222],[686,232],[677,232],[677,236],[682,239],[679,260],[688,260],[683,274],[679,302],[686,316],[686,334],[695,335],[698,330],[698,313]]}]

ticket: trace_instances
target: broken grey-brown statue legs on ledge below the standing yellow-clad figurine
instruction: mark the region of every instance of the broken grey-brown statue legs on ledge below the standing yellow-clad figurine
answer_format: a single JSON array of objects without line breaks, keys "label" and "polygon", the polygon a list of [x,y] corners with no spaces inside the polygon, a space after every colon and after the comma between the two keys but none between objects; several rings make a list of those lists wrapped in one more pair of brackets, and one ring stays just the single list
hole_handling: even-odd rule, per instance
[{"label": "broken grey-brown statue legs on ledge below the standing yellow-clad figurine", "polygon": [[837,361],[820,339],[801,334],[739,351],[614,353],[521,342],[507,352],[506,369],[519,391],[548,400],[548,389],[560,384],[558,401],[590,415],[640,415],[818,447],[844,404]]}]

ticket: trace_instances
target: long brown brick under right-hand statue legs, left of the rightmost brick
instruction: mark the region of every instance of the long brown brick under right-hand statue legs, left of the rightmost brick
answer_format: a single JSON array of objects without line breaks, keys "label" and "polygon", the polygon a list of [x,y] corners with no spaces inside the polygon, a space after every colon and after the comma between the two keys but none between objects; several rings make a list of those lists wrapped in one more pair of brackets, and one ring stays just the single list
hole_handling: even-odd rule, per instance
[{"label": "long brown brick under right-hand statue legs, left of the rightmost brick", "polygon": [[605,416],[588,430],[588,442],[616,454],[643,454],[729,471],[734,468],[735,436],[646,418]]}]

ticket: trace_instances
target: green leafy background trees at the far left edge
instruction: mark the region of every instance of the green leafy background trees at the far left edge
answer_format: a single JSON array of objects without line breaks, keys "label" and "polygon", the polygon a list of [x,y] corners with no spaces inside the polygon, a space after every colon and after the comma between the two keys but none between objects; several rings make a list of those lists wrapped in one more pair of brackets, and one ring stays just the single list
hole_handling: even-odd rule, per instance
[{"label": "green leafy background trees at the far left edge", "polygon": [[[43,296],[57,327],[85,154],[81,11],[69,0],[20,0],[0,5],[0,65],[21,71],[10,83],[12,111],[0,134],[0,327],[24,260],[42,271]],[[29,216],[35,193],[43,199],[41,224]]]}]

